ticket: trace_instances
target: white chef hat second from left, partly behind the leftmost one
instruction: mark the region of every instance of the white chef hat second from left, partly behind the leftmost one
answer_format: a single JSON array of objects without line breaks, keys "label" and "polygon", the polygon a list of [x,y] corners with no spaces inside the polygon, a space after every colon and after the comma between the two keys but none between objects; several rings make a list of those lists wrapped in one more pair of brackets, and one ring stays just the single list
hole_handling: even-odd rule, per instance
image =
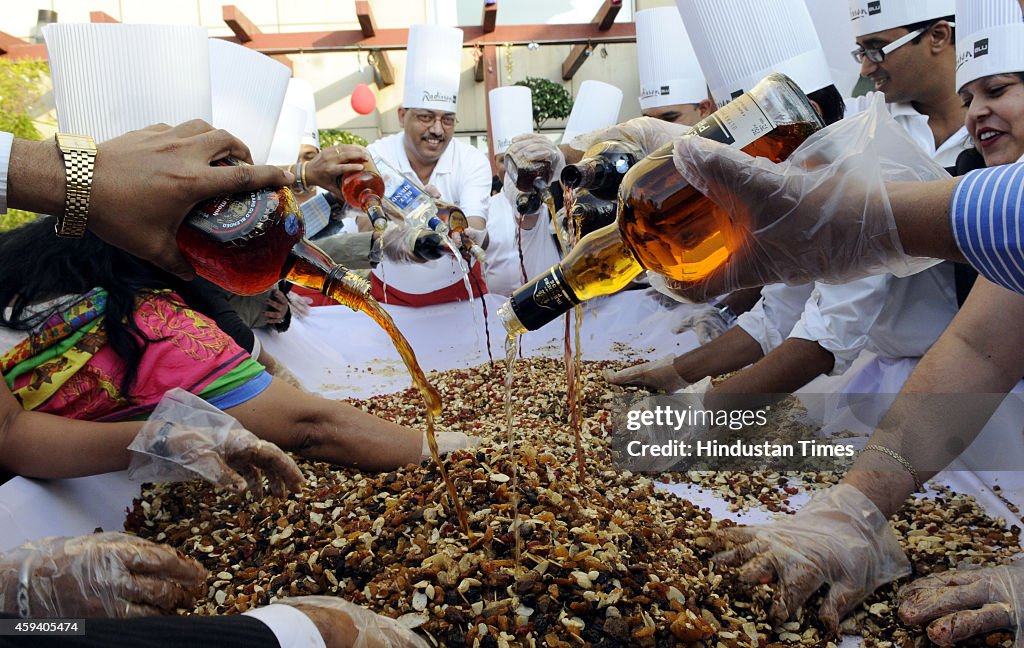
[{"label": "white chef hat second from left, partly behind the leftmost one", "polygon": [[266,54],[210,39],[213,125],[249,146],[253,162],[265,164],[292,72]]}]

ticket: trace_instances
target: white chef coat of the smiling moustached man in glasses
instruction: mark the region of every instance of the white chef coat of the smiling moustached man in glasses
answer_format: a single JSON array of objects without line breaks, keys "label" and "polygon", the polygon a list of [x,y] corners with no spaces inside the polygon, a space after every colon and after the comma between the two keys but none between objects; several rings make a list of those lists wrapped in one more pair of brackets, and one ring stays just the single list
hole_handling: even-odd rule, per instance
[{"label": "white chef coat of the smiling moustached man in glasses", "polygon": [[[375,156],[387,160],[407,177],[419,182],[406,154],[406,134],[396,133],[370,144]],[[429,184],[437,187],[441,200],[462,208],[466,216],[487,217],[487,200],[490,197],[490,165],[482,153],[462,142],[452,140],[444,148],[437,166],[430,174]],[[463,265],[460,259],[445,255],[426,263],[394,263],[388,260],[373,269],[388,289],[423,295],[455,284],[463,283]]]}]

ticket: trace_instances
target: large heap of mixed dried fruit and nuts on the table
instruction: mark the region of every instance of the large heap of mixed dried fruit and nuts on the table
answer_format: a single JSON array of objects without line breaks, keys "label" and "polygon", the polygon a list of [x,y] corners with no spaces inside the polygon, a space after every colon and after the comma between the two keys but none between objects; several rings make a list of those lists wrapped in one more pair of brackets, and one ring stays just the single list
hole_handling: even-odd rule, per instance
[{"label": "large heap of mixed dried fruit and nuts on the table", "polygon": [[[386,474],[300,462],[305,490],[287,500],[218,492],[200,483],[146,486],[126,528],[199,558],[209,591],[195,612],[220,614],[274,598],[337,594],[388,616],[412,615],[446,646],[829,645],[814,614],[781,627],[764,619],[770,586],[741,589],[712,563],[707,533],[728,520],[667,493],[646,476],[611,469],[606,438],[614,393],[601,379],[623,362],[584,363],[588,474],[575,472],[563,365],[517,364],[514,387],[521,562],[515,564],[513,465],[504,429],[504,369],[434,374],[445,400],[440,429],[482,439],[446,459],[470,511],[472,542],[459,529],[434,466]],[[421,426],[407,390],[356,404]],[[659,476],[655,476],[660,479]],[[676,475],[783,515],[798,488],[826,487],[830,474]],[[1018,529],[987,517],[970,496],[915,500],[894,526],[922,575],[962,561],[996,564],[1019,550]],[[820,594],[818,595],[820,596]],[[812,600],[808,607],[816,609]],[[896,616],[895,587],[846,621],[874,646],[925,645],[922,629]],[[1011,642],[996,633],[978,645]]]}]

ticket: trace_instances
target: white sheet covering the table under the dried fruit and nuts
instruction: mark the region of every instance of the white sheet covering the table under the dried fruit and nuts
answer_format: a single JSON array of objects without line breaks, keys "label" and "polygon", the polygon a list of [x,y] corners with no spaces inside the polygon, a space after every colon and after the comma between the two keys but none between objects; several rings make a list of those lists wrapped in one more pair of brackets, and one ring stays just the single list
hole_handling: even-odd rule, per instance
[{"label": "white sheet covering the table under the dried fruit and nuts", "polygon": [[[500,361],[504,358],[505,336],[497,309],[504,299],[487,296],[485,301],[492,353]],[[470,366],[487,360],[479,301],[387,309],[426,371]],[[672,323],[679,319],[681,311],[664,308],[641,291],[595,300],[585,305],[585,313],[582,339],[587,359],[654,358],[684,352],[697,343],[692,333],[672,334]],[[287,333],[261,331],[259,336],[263,347],[289,366],[308,389],[326,397],[360,398],[404,389],[411,384],[386,335],[369,317],[344,306],[313,308],[309,315],[293,319]],[[523,354],[561,357],[562,336],[562,320],[558,319],[523,336]],[[887,392],[893,387],[898,389],[911,366],[911,362],[879,363],[865,355],[855,363],[854,371],[867,372],[861,380],[870,375],[872,381],[882,385],[879,389]],[[851,374],[818,379],[805,391],[827,393],[856,384],[857,375]],[[1017,390],[1021,389],[1024,386],[1019,385]],[[1024,504],[1024,473],[980,474],[971,469],[984,465],[987,453],[1007,451],[1019,452],[1024,466],[1024,439],[1019,423],[1024,414],[1012,407],[1005,409],[993,417],[993,422],[965,453],[962,470],[947,470],[936,479],[958,492],[975,494],[990,515],[1024,526],[990,490],[992,483],[998,483],[1005,498],[1017,505]],[[741,515],[730,513],[726,503],[714,493],[684,484],[665,487],[697,506],[710,508],[718,517],[746,524],[772,519],[773,514],[762,510]],[[135,496],[138,486],[128,481],[123,472],[74,480],[14,478],[0,486],[0,551],[44,535],[89,533],[97,526],[106,530],[123,528],[125,510]],[[799,494],[793,504],[799,506],[805,498]],[[856,644],[855,639],[848,638],[843,646]]]}]

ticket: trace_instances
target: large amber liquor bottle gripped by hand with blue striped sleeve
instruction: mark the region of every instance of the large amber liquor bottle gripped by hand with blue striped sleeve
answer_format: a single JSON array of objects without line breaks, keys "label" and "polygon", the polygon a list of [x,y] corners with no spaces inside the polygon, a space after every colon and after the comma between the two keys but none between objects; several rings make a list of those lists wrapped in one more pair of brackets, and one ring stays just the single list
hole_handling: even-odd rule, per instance
[{"label": "large amber liquor bottle gripped by hand with blue striped sleeve", "polygon": [[[800,88],[772,74],[684,136],[778,162],[822,126]],[[683,180],[672,150],[672,143],[658,148],[626,174],[616,223],[584,236],[499,309],[510,334],[536,331],[582,301],[615,293],[645,268],[692,284],[729,258],[739,243],[729,214]]]}]

